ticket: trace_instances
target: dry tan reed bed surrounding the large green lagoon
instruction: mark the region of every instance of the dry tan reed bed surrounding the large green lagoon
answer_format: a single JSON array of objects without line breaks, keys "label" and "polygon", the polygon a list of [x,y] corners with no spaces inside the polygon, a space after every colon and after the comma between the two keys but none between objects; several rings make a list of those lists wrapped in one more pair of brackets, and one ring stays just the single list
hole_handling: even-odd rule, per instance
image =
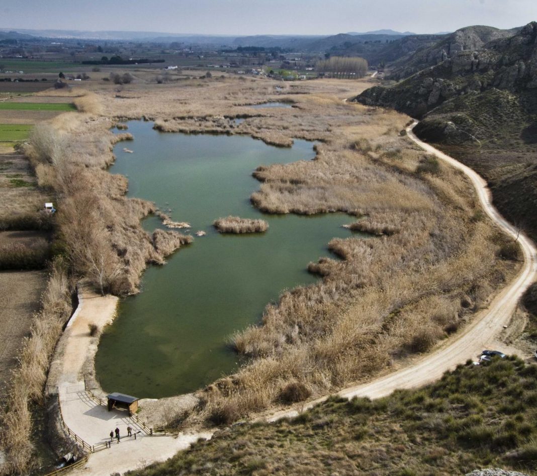
[{"label": "dry tan reed bed surrounding the large green lagoon", "polygon": [[[455,332],[517,266],[509,240],[475,218],[481,210],[469,182],[401,135],[407,116],[343,104],[360,81],[308,82],[299,85],[307,93],[293,96],[284,86],[277,92],[265,79],[185,80],[158,88],[129,84],[117,97],[110,85],[99,85],[103,116],[55,119],[59,136],[68,137],[68,160],[34,158],[63,194],[58,218],[72,271],[116,294],[136,292],[147,263],[163,262],[183,244],[170,236],[171,245],[158,245],[163,237],[140,226],[154,206],[126,199],[127,181],[103,170],[113,161],[107,128],[118,120],[153,120],[163,131],[248,134],[281,147],[295,138],[318,141],[314,160],[259,167],[252,203],[269,213],[341,211],[357,219],[353,228],[382,233],[332,239],[329,248],[342,260],[310,263],[322,280],[283,292],[259,325],[233,336],[248,363],[200,391],[198,411],[186,422],[228,424],[371,377]],[[295,107],[255,114],[245,107],[286,99]],[[235,125],[237,117],[245,121]],[[92,261],[106,262],[106,269],[95,272]]]}]

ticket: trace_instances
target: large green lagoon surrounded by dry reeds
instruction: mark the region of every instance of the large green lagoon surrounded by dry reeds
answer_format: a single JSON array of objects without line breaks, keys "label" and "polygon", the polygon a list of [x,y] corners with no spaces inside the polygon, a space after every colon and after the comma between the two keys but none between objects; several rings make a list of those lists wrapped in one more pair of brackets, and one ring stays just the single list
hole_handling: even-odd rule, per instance
[{"label": "large green lagoon surrounded by dry reeds", "polygon": [[[236,331],[259,322],[285,289],[314,283],[310,261],[329,255],[333,237],[349,237],[344,214],[266,215],[251,206],[259,165],[314,158],[313,144],[270,147],[248,136],[158,133],[148,122],[129,122],[133,153],[119,143],[111,173],[126,175],[129,196],[154,201],[175,221],[206,231],[180,248],[165,266],[150,266],[141,293],[122,299],[101,337],[96,372],[105,391],[140,398],[191,392],[233,372],[229,347]],[[212,223],[236,215],[263,218],[269,230],[221,235]],[[152,231],[159,220],[150,217]],[[185,232],[184,230],[181,230]]]}]

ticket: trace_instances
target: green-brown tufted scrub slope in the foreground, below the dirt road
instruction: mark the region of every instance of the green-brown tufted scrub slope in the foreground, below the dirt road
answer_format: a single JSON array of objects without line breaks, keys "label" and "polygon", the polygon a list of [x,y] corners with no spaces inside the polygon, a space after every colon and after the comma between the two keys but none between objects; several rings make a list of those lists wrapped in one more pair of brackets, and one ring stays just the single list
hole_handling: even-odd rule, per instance
[{"label": "green-brown tufted scrub slope in the foreground, below the dirt road", "polygon": [[536,378],[537,365],[516,358],[461,365],[423,389],[373,402],[332,398],[291,421],[235,426],[128,474],[447,475],[487,466],[531,472]]}]

